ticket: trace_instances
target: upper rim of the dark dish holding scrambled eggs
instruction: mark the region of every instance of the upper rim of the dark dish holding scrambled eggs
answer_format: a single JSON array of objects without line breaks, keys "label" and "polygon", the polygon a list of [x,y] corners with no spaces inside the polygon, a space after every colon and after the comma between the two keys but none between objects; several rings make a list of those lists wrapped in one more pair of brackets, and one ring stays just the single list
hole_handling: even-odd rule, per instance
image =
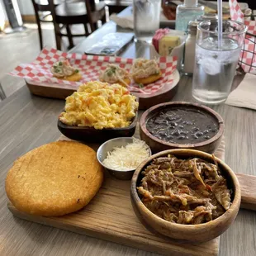
[{"label": "upper rim of the dark dish holding scrambled eggs", "polygon": [[62,121],[58,118],[58,126],[61,128],[64,128],[66,130],[97,130],[98,132],[101,132],[103,130],[130,130],[133,129],[137,125],[138,121],[138,111],[136,111],[135,116],[131,119],[130,126],[126,127],[119,127],[119,128],[103,128],[103,129],[95,129],[94,127],[88,127],[88,126],[69,126],[64,124]]}]

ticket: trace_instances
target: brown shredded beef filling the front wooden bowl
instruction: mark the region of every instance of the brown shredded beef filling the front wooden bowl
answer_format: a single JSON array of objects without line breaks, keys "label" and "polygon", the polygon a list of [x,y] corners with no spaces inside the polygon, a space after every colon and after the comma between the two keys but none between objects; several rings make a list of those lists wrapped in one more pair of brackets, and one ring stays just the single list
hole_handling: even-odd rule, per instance
[{"label": "brown shredded beef filling the front wooden bowl", "polygon": [[178,224],[201,224],[230,208],[231,191],[215,164],[173,155],[154,159],[137,187],[141,200],[157,216]]}]

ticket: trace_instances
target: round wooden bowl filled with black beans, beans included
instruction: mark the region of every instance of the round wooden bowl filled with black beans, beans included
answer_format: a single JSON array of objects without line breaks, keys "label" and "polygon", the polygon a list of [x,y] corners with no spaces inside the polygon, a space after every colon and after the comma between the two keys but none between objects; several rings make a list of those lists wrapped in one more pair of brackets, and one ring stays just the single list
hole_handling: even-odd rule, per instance
[{"label": "round wooden bowl filled with black beans, beans included", "polygon": [[220,146],[223,134],[222,117],[197,103],[162,103],[150,107],[140,118],[140,137],[154,153],[166,149],[213,153]]}]

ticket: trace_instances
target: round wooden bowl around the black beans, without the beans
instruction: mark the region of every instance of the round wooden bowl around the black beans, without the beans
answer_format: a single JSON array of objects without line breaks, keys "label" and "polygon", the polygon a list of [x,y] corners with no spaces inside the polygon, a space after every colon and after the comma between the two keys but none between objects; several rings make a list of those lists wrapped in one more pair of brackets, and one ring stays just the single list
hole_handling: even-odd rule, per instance
[{"label": "round wooden bowl around the black beans, without the beans", "polygon": [[[164,140],[160,140],[154,135],[149,133],[149,130],[146,128],[147,121],[151,116],[154,116],[156,112],[162,111],[166,108],[172,107],[188,107],[194,108],[200,111],[204,111],[211,116],[213,116],[219,124],[218,133],[213,136],[209,140],[202,141],[196,144],[175,144],[170,143]],[[221,116],[216,112],[213,111],[210,107],[205,107],[197,103],[190,103],[190,102],[166,102],[154,107],[150,107],[147,111],[143,113],[140,118],[140,138],[141,140],[145,140],[145,143],[149,145],[152,152],[157,153],[167,149],[197,149],[207,153],[213,153],[219,146],[221,142],[222,135],[224,134],[224,121]]]}]

